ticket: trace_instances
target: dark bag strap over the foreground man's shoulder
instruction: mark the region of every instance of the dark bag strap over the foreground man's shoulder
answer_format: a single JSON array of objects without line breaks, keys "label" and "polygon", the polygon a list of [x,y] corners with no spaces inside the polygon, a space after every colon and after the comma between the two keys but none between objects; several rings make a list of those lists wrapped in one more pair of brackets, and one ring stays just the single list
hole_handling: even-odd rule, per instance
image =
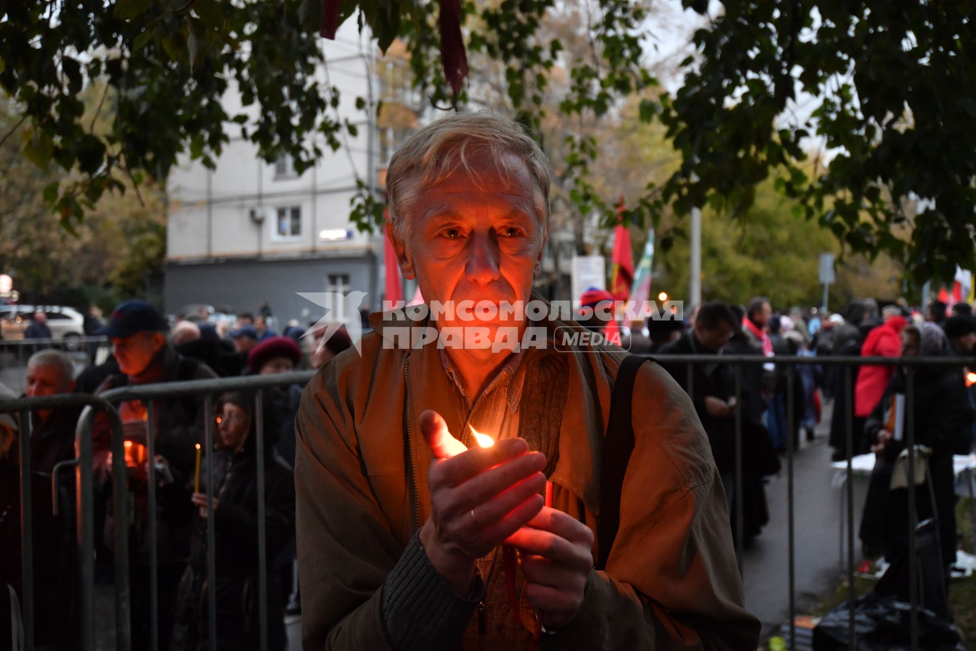
[{"label": "dark bag strap over the foreground man's shoulder", "polygon": [[596,569],[606,568],[617,530],[620,528],[620,494],[624,474],[633,452],[633,426],[630,421],[633,384],[637,370],[644,362],[657,360],[643,355],[629,355],[617,371],[610,399],[610,419],[603,436],[603,468],[600,472],[600,514],[596,518],[596,540],[599,557]]}]

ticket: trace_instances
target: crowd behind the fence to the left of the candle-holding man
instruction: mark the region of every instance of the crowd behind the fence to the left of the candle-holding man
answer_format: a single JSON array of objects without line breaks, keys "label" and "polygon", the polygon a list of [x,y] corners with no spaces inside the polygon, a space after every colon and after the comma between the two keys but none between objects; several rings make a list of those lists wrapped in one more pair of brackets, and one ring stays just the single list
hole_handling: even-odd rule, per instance
[{"label": "crowd behind the fence to the left of the candle-holding man", "polygon": [[[321,332],[290,325],[284,335],[266,327],[266,315],[244,312],[221,337],[205,321],[178,318],[171,326],[154,307],[142,301],[118,305],[97,334],[111,343],[102,364],[75,373],[60,350],[34,352],[26,368],[22,395],[60,393],[102,394],[117,387],[205,380],[218,377],[268,375],[315,369],[351,346],[345,328],[319,346]],[[43,316],[38,319],[43,321]],[[2,397],[17,393],[0,386]],[[302,386],[272,387],[262,392],[264,422],[264,495],[270,648],[284,648],[285,612],[300,612],[295,568],[295,414]],[[158,563],[159,648],[208,648],[207,591],[217,598],[217,626],[222,648],[257,648],[258,644],[258,492],[256,394],[229,391],[215,396],[216,410],[205,411],[204,395],[171,396],[152,401],[155,458],[146,459],[148,404],[140,400],[118,405],[126,435],[128,485],[134,498],[130,535],[130,590],[134,648],[149,647],[149,529],[156,520]],[[54,490],[62,508],[53,515],[51,474],[56,464],[75,456],[78,408],[36,410],[31,414],[30,458],[35,562],[35,627],[39,648],[75,648],[78,604],[74,579],[74,481],[61,475]],[[205,451],[195,471],[198,446],[205,442],[205,419],[214,419],[214,447]],[[22,595],[20,567],[20,432],[17,416],[0,415],[0,583]],[[208,460],[207,456],[212,459]],[[111,497],[112,453],[107,418],[93,427],[96,472],[96,570],[100,581],[112,581],[114,542]],[[155,467],[156,512],[148,512],[148,463]],[[211,477],[206,468],[213,468]],[[9,490],[8,490],[9,489]],[[213,492],[217,546],[217,584],[205,583],[207,555],[206,495]],[[65,544],[66,543],[66,544]],[[9,613],[11,597],[0,591],[0,612]],[[19,597],[20,598],[20,597]],[[202,604],[202,606],[201,606]],[[14,604],[16,605],[16,604]],[[51,622],[61,627],[48,626]],[[0,639],[10,639],[12,619],[0,617]],[[230,637],[228,637],[230,636]],[[224,640],[233,638],[230,646]]]}]

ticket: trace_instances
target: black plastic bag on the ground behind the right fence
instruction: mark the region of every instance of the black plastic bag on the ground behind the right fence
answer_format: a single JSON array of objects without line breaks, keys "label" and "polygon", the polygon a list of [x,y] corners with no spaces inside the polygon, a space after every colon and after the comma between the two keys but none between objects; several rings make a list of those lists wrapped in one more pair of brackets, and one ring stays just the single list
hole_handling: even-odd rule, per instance
[{"label": "black plastic bag on the ground behind the right fence", "polygon": [[[854,606],[854,636],[858,651],[901,651],[912,648],[911,605],[887,594],[871,592]],[[959,632],[929,610],[918,611],[918,648],[926,651],[964,651]],[[843,603],[813,630],[813,651],[846,650],[850,611]]]}]

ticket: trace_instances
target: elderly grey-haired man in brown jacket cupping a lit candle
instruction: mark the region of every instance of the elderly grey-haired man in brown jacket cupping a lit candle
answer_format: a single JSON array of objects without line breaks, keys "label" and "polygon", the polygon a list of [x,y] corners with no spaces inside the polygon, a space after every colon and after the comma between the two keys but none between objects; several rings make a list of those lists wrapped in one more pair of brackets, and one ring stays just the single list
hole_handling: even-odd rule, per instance
[{"label": "elderly grey-haired man in brown jacket cupping a lit candle", "polygon": [[549,183],[531,135],[487,113],[391,159],[387,234],[437,335],[404,345],[410,313],[374,314],[305,388],[305,649],[756,647],[687,395],[619,347],[549,346],[585,332],[566,312],[508,309],[553,307],[532,293]]}]

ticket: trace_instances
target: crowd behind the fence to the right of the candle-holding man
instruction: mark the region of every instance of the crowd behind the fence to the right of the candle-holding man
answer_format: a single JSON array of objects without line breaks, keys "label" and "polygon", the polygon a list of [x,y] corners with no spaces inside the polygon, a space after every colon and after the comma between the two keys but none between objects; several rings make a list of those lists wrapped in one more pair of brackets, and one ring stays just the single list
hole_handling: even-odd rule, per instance
[{"label": "crowd behind the fence to the right of the candle-holding man", "polygon": [[[599,298],[609,300],[608,296]],[[695,306],[687,322],[649,320],[635,325],[625,346],[631,352],[657,357],[674,380],[689,390],[712,444],[730,517],[734,517],[736,505],[742,505],[746,543],[768,521],[763,477],[780,469],[776,453],[782,455],[788,445],[791,424],[786,404],[792,386],[794,449],[799,449],[801,432],[813,440],[822,407],[830,400],[832,461],[846,460],[849,453],[874,453],[860,538],[866,555],[883,555],[891,563],[903,560],[909,547],[909,489],[893,489],[892,475],[899,459],[905,463],[906,419],[912,419],[916,444],[923,446],[918,468],[927,467],[925,479],[914,489],[917,517],[935,523],[948,579],[958,544],[953,456],[969,455],[976,449],[973,377],[962,364],[933,363],[910,370],[907,365],[860,364],[856,358],[976,356],[971,305],[956,303],[950,310],[936,301],[923,313],[869,299],[852,302],[843,313],[798,307],[774,313],[767,299],[757,297],[748,306],[717,302]],[[641,325],[646,334],[640,331]],[[714,355],[716,360],[689,367],[669,362],[672,354]],[[739,365],[741,496],[736,493],[734,463],[733,365],[721,363],[723,354],[770,358],[762,364]],[[776,363],[775,358],[782,355],[811,356],[811,363]],[[846,367],[820,363],[832,356],[855,360]],[[915,389],[911,393],[907,390],[910,373]],[[906,407],[909,399],[911,405]],[[848,412],[852,419],[847,418]],[[907,592],[899,596],[907,599]]]}]

